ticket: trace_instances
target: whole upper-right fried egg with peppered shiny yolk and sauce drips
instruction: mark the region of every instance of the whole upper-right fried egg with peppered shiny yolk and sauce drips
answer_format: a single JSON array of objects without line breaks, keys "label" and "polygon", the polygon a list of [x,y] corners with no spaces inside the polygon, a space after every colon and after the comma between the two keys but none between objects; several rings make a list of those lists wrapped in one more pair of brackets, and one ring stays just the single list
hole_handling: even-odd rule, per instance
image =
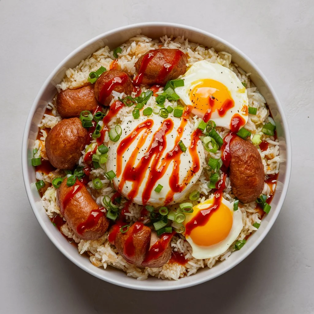
[{"label": "whole upper-right fried egg with peppered shiny yolk and sauce drips", "polygon": [[218,63],[195,62],[175,92],[192,114],[238,131],[248,119],[248,97],[236,73]]}]

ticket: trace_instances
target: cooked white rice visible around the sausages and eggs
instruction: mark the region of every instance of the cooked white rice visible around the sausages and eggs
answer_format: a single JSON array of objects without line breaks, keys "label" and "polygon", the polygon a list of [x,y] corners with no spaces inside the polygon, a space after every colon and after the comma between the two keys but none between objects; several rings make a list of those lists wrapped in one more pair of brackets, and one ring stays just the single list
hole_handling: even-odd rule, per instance
[{"label": "cooked white rice visible around the sausages and eggs", "polygon": [[[145,54],[147,51],[151,49],[158,49],[158,48],[177,48],[184,51],[188,56],[187,66],[190,67],[193,63],[200,61],[200,60],[208,60],[212,63],[219,63],[229,69],[231,69],[234,73],[236,73],[237,77],[240,79],[242,84],[246,87],[247,95],[249,99],[249,106],[257,108],[257,114],[248,116],[248,122],[246,124],[246,129],[249,130],[252,135],[259,134],[263,141],[268,143],[268,148],[265,151],[261,151],[258,147],[258,151],[261,155],[264,171],[266,175],[276,174],[279,171],[279,164],[280,164],[280,157],[279,157],[279,143],[273,136],[267,136],[262,133],[263,124],[267,121],[269,116],[268,108],[266,107],[266,101],[264,97],[259,93],[255,85],[250,81],[249,75],[250,73],[245,73],[243,69],[241,69],[237,64],[232,63],[231,55],[228,52],[218,52],[214,51],[214,48],[206,48],[200,46],[196,43],[190,43],[188,39],[182,37],[173,38],[163,36],[160,40],[152,40],[144,35],[137,35],[133,38],[130,38],[129,41],[124,43],[122,46],[121,53],[118,53],[117,64],[119,67],[129,73],[131,77],[135,76],[135,63],[138,59]],[[69,68],[66,71],[66,76],[62,79],[62,82],[57,85],[57,89],[73,89],[78,88],[80,86],[84,86],[88,81],[88,75],[91,71],[97,70],[100,66],[105,67],[106,69],[110,68],[111,63],[113,62],[113,51],[109,50],[109,47],[103,47],[100,50],[94,52],[90,56],[88,56],[85,60],[82,60],[75,68]],[[145,91],[145,89],[143,89]],[[113,94],[115,98],[112,100],[118,100],[119,97],[123,97],[123,93],[116,93]],[[134,96],[134,95],[133,95]],[[168,101],[168,100],[166,100]],[[44,128],[52,128],[58,122],[61,121],[60,116],[58,116],[57,111],[53,103],[48,104],[49,109],[52,110],[52,114],[48,115],[45,114],[39,127],[42,128],[41,130],[41,137],[39,140],[35,142],[35,149],[37,152],[35,157],[43,157],[46,159],[45,154],[45,138],[47,136]],[[154,109],[156,106],[155,97],[152,96],[147,106],[150,106]],[[167,104],[165,104],[167,106]],[[113,127],[119,121],[127,116],[132,116],[131,107],[123,107],[122,110],[119,111],[117,116],[113,118],[110,123],[109,127]],[[195,125],[198,125],[198,118],[195,116],[190,121]],[[225,135],[228,134],[229,130],[219,128],[217,130],[219,135],[223,138]],[[108,133],[106,132],[105,142],[109,141]],[[95,142],[95,141],[94,141]],[[84,154],[85,151],[82,151],[82,157],[80,158],[78,164],[85,166],[84,164]],[[217,151],[216,153],[208,153],[205,152],[206,158],[213,157],[218,158],[220,156],[221,151]],[[90,179],[93,178],[100,178],[101,182],[103,183],[103,187],[100,190],[96,190],[93,186],[92,181],[88,183],[88,190],[96,200],[96,202],[103,206],[102,198],[106,195],[111,197],[115,190],[113,189],[109,180],[105,178],[105,169],[95,169],[91,171]],[[59,175],[59,170],[57,169],[53,173],[49,175],[45,175],[41,172],[36,173],[36,178],[38,180],[43,180],[46,182],[51,182],[51,180]],[[222,171],[220,171],[220,175],[222,175]],[[205,176],[205,170],[203,170],[200,178],[195,183],[195,189],[200,192],[200,198],[198,202],[204,201],[211,197],[212,191],[207,185],[207,179]],[[274,186],[272,186],[272,190],[274,190]],[[267,196],[271,192],[271,188],[265,183],[263,193]],[[226,187],[223,193],[223,197],[232,202],[234,200],[234,196],[231,192],[230,180],[229,178],[226,179]],[[56,214],[60,214],[60,208],[57,206],[56,203],[56,189],[54,187],[49,187],[42,197],[42,204],[46,209],[47,215],[52,218]],[[125,205],[125,201],[122,201],[120,205],[120,209],[122,209]],[[135,222],[141,216],[141,209],[143,207],[141,205],[131,203],[129,206],[129,212],[126,213],[126,219],[130,222]],[[242,222],[243,222],[243,229],[238,236],[237,240],[245,239],[250,233],[254,230],[257,230],[253,226],[254,223],[261,222],[261,216],[259,210],[256,208],[256,203],[252,202],[250,204],[245,204],[241,208],[242,213]],[[70,239],[73,239],[78,244],[78,252],[80,254],[88,253],[90,262],[95,265],[96,267],[103,267],[107,268],[108,265],[121,269],[122,271],[127,273],[127,276],[131,276],[136,278],[137,280],[144,280],[147,279],[149,276],[154,276],[160,279],[169,279],[169,280],[178,280],[184,276],[190,276],[198,271],[200,268],[212,268],[217,262],[223,261],[228,259],[230,254],[235,250],[234,244],[232,244],[226,252],[223,254],[198,260],[192,257],[192,248],[189,243],[185,240],[185,238],[181,235],[176,235],[173,237],[171,241],[171,247],[174,252],[182,253],[186,259],[185,265],[180,265],[175,262],[171,262],[171,260],[163,265],[160,268],[138,268],[133,264],[127,263],[122,256],[117,252],[116,248],[109,243],[107,240],[108,232],[104,236],[102,236],[98,240],[94,241],[86,241],[81,240],[75,236],[73,230],[71,230],[67,223],[62,225],[61,227],[62,233]]]}]

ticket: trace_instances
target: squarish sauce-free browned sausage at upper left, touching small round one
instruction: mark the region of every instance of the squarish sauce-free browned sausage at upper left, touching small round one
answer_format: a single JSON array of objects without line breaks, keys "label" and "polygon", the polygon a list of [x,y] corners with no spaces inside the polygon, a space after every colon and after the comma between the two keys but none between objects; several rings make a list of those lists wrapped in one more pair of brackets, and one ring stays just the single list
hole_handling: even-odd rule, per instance
[{"label": "squarish sauce-free browned sausage at upper left, touching small round one", "polygon": [[91,85],[62,90],[57,95],[56,108],[62,119],[79,117],[85,110],[93,112],[97,106],[94,88]]}]

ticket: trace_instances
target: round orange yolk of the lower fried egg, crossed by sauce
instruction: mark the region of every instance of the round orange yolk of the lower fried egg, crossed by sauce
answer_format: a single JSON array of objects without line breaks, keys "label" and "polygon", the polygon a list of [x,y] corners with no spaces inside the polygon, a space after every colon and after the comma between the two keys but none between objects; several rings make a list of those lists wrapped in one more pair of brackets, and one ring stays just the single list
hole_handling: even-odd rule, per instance
[{"label": "round orange yolk of the lower fried egg, crossed by sauce", "polygon": [[206,203],[208,203],[207,208],[199,205],[194,206],[193,213],[186,214],[187,219],[183,223],[186,226],[193,220],[195,224],[198,221],[198,216],[209,215],[205,225],[198,225],[187,235],[199,246],[211,246],[224,240],[228,236],[233,222],[232,213],[225,204],[220,202],[218,208],[210,209],[213,205],[212,200],[208,200]]}]

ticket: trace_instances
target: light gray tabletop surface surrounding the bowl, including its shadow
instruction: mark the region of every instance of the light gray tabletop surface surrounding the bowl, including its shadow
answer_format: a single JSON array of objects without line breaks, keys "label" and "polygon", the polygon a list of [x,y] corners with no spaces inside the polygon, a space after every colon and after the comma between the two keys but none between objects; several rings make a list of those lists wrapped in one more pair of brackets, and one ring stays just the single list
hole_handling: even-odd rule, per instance
[{"label": "light gray tabletop surface surrounding the bowl, including its shadow", "polygon": [[[1,313],[314,313],[314,3],[311,0],[0,0]],[[172,292],[120,288],[50,242],[26,197],[21,142],[41,85],[73,49],[118,26],[164,21],[224,38],[249,56],[286,112],[290,187],[272,230],[228,273]]]}]

